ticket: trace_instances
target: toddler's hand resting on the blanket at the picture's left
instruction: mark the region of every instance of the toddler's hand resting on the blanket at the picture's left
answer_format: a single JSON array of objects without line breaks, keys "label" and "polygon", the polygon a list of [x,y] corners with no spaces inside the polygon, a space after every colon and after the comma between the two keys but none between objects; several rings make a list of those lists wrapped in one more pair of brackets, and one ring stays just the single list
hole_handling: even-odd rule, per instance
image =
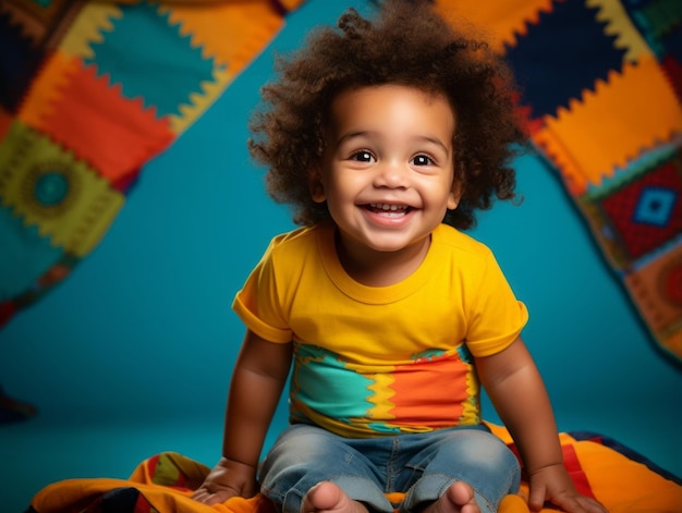
[{"label": "toddler's hand resting on the blanket at the picture's left", "polygon": [[256,468],[221,457],[192,499],[204,504],[220,504],[232,497],[248,499],[258,491]]}]

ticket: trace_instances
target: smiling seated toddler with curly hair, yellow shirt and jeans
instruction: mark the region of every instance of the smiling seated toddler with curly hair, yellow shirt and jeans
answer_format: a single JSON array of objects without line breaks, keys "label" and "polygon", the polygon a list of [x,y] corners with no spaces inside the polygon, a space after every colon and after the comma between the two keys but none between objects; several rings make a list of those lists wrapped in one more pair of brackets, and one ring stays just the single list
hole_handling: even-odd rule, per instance
[{"label": "smiling seated toddler with curly hair, yellow shirt and jeans", "polygon": [[[234,300],[246,335],[222,457],[196,500],[260,491],[287,513],[495,512],[521,471],[482,422],[483,386],[532,509],[606,511],[563,466],[520,338],[525,306],[462,232],[514,197],[525,135],[508,69],[453,26],[429,2],[387,0],[278,61],[249,147],[301,228],[271,241]],[[290,426],[259,466],[290,371]]]}]

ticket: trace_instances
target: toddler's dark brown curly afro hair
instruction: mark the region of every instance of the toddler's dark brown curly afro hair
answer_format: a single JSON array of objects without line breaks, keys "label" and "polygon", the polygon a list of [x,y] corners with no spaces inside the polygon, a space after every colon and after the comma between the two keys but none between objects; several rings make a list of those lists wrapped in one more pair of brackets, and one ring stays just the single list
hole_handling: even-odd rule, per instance
[{"label": "toddler's dark brown curly afro hair", "polygon": [[385,0],[376,19],[349,9],[338,27],[320,27],[289,59],[279,58],[276,82],[263,88],[251,122],[252,156],[268,169],[270,196],[294,208],[294,221],[329,218],[308,183],[325,150],[330,103],[342,90],[398,84],[444,95],[453,107],[455,180],[463,195],[443,222],[464,230],[475,210],[514,197],[510,160],[526,144],[513,102],[509,69],[487,45],[455,29],[430,2]]}]

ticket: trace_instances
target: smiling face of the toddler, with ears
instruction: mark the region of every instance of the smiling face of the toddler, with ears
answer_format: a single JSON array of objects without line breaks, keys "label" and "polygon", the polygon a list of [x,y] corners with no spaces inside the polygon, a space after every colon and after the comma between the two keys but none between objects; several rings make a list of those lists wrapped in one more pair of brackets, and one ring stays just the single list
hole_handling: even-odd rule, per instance
[{"label": "smiling face of the toddler, with ears", "polygon": [[342,243],[375,252],[428,244],[460,197],[447,99],[400,85],[363,87],[341,93],[330,119],[310,188],[327,200]]}]

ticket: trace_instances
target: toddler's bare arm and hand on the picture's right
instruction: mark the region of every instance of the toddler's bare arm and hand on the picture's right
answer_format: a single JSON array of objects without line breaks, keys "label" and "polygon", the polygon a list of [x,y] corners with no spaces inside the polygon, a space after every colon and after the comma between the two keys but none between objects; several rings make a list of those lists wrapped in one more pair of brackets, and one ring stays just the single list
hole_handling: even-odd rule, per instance
[{"label": "toddler's bare arm and hand on the picture's right", "polygon": [[476,368],[528,473],[531,509],[538,511],[548,500],[568,513],[606,512],[597,501],[577,493],[563,466],[549,396],[523,341],[476,358]]}]

